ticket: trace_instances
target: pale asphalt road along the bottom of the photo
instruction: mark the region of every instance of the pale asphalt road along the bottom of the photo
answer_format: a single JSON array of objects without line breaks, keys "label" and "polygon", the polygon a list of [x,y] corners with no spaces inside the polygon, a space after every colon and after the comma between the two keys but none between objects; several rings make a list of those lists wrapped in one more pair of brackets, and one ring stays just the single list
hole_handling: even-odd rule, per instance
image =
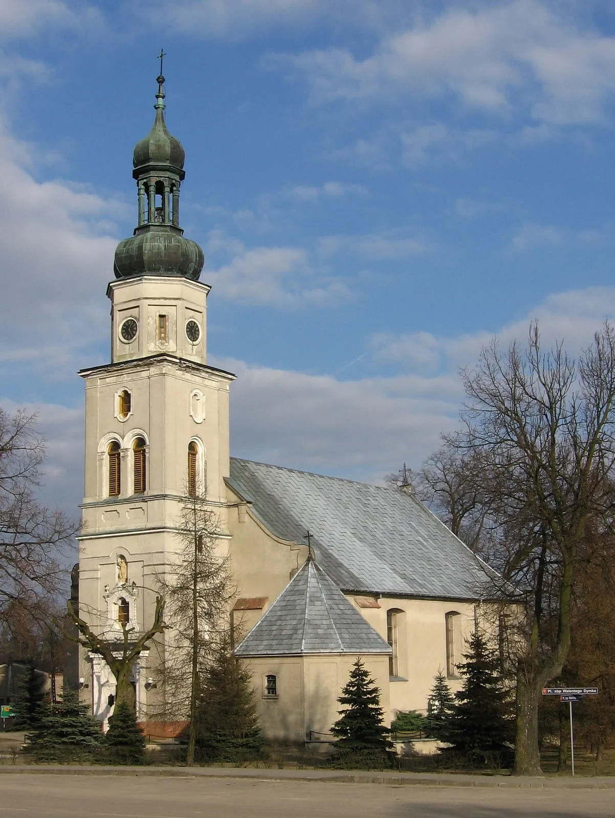
[{"label": "pale asphalt road along the bottom of the photo", "polygon": [[0,776],[0,818],[599,818],[615,789],[476,789],[113,775]]}]

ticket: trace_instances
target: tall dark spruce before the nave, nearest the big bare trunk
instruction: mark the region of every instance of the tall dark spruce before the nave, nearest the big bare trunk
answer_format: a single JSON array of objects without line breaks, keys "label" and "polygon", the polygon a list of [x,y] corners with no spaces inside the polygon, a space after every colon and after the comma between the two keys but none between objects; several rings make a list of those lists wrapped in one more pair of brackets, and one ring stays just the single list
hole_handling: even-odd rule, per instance
[{"label": "tall dark spruce before the nave, nearest the big bare trunk", "polygon": [[509,693],[502,685],[497,651],[477,629],[464,658],[465,663],[459,664],[464,686],[454,696],[454,711],[441,731],[441,739],[468,757],[486,760],[494,753],[508,755]]}]

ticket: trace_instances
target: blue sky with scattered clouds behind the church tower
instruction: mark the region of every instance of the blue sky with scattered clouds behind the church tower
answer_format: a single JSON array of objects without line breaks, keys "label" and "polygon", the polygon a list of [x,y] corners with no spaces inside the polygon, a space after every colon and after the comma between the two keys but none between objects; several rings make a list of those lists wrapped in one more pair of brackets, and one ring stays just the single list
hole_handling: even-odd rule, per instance
[{"label": "blue sky with scattered clouds behind the church tower", "polygon": [[378,481],[491,335],[574,352],[612,316],[612,3],[0,0],[0,401],[39,413],[49,501],[81,497],[161,46],[237,456]]}]

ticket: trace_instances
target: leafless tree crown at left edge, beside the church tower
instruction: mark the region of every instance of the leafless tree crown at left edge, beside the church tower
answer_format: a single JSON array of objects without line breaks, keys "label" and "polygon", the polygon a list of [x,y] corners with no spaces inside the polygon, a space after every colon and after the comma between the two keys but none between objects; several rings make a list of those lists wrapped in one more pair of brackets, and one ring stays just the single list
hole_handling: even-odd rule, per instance
[{"label": "leafless tree crown at left edge, beside the church tower", "polygon": [[0,408],[0,634],[7,642],[25,632],[42,640],[66,582],[62,554],[78,528],[36,498],[45,454],[36,416]]}]

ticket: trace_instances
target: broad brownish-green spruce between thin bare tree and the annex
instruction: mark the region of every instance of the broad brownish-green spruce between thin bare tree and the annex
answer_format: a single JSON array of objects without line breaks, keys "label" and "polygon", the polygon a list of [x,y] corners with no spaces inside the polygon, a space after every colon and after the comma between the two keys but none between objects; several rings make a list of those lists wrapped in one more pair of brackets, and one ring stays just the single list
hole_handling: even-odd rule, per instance
[{"label": "broad brownish-green spruce between thin bare tree and the annex", "polygon": [[260,733],[251,674],[233,656],[228,638],[201,674],[195,722],[197,760],[249,761],[260,756]]}]

